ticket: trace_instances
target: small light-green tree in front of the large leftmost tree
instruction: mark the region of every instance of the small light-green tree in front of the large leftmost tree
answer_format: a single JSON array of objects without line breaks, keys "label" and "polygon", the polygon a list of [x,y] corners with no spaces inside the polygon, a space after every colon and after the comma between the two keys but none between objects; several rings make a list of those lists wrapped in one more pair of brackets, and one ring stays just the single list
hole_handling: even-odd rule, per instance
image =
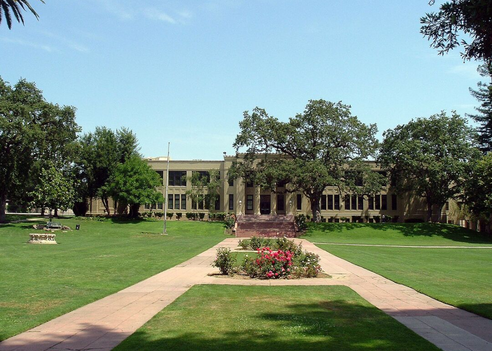
[{"label": "small light-green tree in front of the large leftmost tree", "polygon": [[73,206],[75,190],[73,180],[66,177],[60,167],[49,162],[46,168],[41,170],[39,183],[31,193],[33,206],[46,207],[50,210],[59,208],[63,211]]}]

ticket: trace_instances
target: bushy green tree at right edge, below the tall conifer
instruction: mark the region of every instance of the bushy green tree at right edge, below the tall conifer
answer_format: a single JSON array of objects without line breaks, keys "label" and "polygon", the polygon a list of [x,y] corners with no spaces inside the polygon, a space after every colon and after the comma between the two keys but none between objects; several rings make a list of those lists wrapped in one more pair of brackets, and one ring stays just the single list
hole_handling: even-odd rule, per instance
[{"label": "bushy green tree at right edge, below the tall conifer", "polygon": [[470,176],[465,179],[463,199],[478,218],[492,223],[492,154],[482,156],[471,164]]}]

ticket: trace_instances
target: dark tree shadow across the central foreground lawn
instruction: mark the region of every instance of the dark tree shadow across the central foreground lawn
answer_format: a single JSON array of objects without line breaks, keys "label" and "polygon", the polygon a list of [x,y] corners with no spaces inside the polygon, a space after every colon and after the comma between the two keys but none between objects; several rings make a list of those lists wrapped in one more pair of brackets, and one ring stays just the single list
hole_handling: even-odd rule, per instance
[{"label": "dark tree shadow across the central foreground lawn", "polygon": [[[137,330],[114,351],[264,351],[273,345],[276,349],[299,351],[439,349],[375,307],[343,300],[286,305],[281,313],[260,311],[238,317],[237,325],[230,321],[232,324],[224,327],[228,320],[221,320],[217,315],[215,320],[206,321],[210,322],[206,330],[202,329],[202,322],[193,321],[193,317],[180,320],[174,327],[168,327],[167,319],[159,325],[151,322],[148,328]],[[190,328],[188,323],[193,323],[193,331],[182,330],[180,323],[187,329]]]}]

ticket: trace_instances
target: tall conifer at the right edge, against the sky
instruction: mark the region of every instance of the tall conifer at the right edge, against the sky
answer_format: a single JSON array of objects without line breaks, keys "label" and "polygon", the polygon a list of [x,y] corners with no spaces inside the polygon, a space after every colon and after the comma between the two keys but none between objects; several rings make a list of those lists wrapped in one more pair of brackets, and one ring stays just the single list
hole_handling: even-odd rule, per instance
[{"label": "tall conifer at the right edge, against the sky", "polygon": [[[478,73],[482,77],[492,79],[492,70],[488,65],[478,66]],[[480,107],[475,107],[478,113],[468,116],[475,120],[478,127],[478,144],[484,153],[492,151],[492,84],[478,82],[478,90],[470,88],[471,95],[480,102]]]}]

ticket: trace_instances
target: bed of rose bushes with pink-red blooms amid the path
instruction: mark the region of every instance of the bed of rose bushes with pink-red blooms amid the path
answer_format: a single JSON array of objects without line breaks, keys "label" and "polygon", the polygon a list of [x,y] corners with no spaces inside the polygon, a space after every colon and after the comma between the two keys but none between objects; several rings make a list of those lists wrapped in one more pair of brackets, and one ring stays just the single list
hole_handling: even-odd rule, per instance
[{"label": "bed of rose bushes with pink-red blooms amid the path", "polygon": [[315,278],[321,272],[319,256],[303,251],[300,244],[282,238],[277,239],[276,246],[277,249],[260,247],[256,257],[245,255],[244,261],[234,267],[234,254],[229,249],[219,248],[212,266],[225,275],[239,273],[259,279]]}]

